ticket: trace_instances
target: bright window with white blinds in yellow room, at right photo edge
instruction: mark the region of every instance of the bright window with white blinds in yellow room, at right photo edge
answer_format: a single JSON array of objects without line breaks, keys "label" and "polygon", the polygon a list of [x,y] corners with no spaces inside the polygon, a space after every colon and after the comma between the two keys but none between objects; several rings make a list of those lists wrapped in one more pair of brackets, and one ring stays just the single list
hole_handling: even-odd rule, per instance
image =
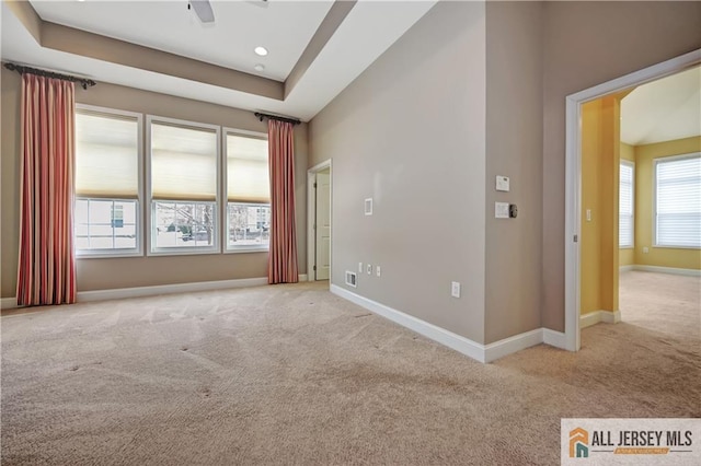
[{"label": "bright window with white blinds in yellow room, at right photo edge", "polygon": [[655,160],[655,244],[701,247],[701,154]]}]

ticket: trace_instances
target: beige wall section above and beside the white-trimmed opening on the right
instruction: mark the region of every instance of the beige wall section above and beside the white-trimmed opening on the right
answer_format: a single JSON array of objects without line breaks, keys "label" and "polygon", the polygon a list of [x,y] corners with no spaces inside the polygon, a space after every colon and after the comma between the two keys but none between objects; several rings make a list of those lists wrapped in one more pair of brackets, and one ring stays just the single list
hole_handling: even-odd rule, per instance
[{"label": "beige wall section above and beside the white-trimmed opening on the right", "polygon": [[564,330],[565,97],[701,47],[701,2],[547,2],[543,315]]}]

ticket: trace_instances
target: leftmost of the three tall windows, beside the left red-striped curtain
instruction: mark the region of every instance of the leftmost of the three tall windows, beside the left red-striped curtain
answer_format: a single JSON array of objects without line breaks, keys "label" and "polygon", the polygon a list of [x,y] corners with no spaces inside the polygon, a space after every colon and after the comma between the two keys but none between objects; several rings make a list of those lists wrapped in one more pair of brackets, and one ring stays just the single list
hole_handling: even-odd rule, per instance
[{"label": "leftmost of the three tall windows, beside the left red-striped curtain", "polygon": [[141,116],[76,107],[77,256],[141,254]]}]

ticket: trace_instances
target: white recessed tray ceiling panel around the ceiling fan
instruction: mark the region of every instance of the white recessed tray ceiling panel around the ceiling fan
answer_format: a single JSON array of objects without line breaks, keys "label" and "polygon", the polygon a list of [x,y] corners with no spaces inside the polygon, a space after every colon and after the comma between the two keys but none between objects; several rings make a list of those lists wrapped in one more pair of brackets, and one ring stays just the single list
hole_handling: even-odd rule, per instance
[{"label": "white recessed tray ceiling panel around the ceiling fan", "polygon": [[[332,0],[211,1],[203,24],[187,1],[30,1],[44,21],[285,81]],[[269,50],[266,57],[253,53]],[[263,72],[254,66],[265,66]]]}]

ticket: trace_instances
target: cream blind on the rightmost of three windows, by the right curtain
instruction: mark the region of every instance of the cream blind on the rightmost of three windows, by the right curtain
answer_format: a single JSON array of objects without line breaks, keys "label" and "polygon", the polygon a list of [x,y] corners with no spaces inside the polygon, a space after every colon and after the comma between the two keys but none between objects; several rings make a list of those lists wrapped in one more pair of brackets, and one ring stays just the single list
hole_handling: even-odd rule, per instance
[{"label": "cream blind on the rightmost of three windows, by the right curtain", "polygon": [[227,133],[227,197],[229,202],[271,201],[267,140]]}]

